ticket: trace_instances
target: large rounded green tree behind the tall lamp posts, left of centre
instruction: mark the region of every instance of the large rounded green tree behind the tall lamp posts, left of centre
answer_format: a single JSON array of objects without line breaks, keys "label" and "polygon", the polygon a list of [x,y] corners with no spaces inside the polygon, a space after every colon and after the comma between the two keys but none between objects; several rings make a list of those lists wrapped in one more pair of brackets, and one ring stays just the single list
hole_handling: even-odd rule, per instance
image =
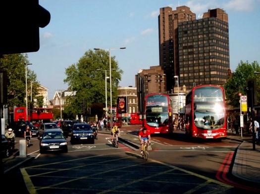
[{"label": "large rounded green tree behind the tall lamp posts, left of centre", "polygon": [[[112,104],[114,105],[117,99],[117,87],[123,74],[123,71],[118,67],[115,56],[111,56],[111,69]],[[85,107],[91,107],[94,103],[103,104],[103,107],[95,106],[95,110],[92,110],[93,113],[100,112],[100,110],[96,109],[102,109],[103,111],[105,104],[104,70],[107,71],[107,76],[109,76],[109,51],[105,50],[95,50],[95,52],[88,50],[79,59],[78,63],[72,64],[65,69],[66,78],[64,82],[68,83],[70,90],[77,92],[76,98],[71,99],[69,103],[69,106],[72,106],[77,112],[76,115],[82,113],[81,102],[83,99],[85,99]],[[110,92],[107,92],[107,98],[110,99]],[[69,107],[67,110],[72,111]],[[68,114],[68,112],[66,113]]]}]

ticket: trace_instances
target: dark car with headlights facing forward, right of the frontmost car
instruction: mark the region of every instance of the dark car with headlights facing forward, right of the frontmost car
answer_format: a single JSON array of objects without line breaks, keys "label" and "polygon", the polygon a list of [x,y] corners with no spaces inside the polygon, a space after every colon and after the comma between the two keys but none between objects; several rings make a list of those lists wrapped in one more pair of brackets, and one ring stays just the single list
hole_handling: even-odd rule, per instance
[{"label": "dark car with headlights facing forward, right of the frontmost car", "polygon": [[87,123],[75,123],[72,126],[72,134],[70,136],[70,143],[75,144],[75,142],[90,142],[95,143],[94,132]]}]

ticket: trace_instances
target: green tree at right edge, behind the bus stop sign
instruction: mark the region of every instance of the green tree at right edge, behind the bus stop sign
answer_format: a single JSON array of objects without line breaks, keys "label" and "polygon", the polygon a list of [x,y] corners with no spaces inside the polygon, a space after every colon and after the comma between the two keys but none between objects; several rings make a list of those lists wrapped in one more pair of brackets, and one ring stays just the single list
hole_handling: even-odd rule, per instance
[{"label": "green tree at right edge, behind the bus stop sign", "polygon": [[233,108],[240,107],[239,93],[242,93],[243,96],[247,95],[246,88],[248,79],[256,80],[255,92],[257,92],[258,99],[260,99],[260,75],[255,74],[255,71],[260,72],[260,66],[257,61],[254,61],[251,64],[249,64],[248,61],[240,61],[237,69],[224,85],[228,105],[232,106]]}]

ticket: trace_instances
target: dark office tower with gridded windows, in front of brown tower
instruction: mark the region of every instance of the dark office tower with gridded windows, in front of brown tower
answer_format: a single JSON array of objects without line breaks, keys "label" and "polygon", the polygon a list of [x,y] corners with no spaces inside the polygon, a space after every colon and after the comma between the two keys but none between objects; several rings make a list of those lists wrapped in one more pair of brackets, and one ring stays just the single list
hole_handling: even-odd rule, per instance
[{"label": "dark office tower with gridded windows, in front of brown tower", "polygon": [[202,19],[178,24],[179,79],[187,89],[223,84],[230,69],[228,16],[216,8]]}]

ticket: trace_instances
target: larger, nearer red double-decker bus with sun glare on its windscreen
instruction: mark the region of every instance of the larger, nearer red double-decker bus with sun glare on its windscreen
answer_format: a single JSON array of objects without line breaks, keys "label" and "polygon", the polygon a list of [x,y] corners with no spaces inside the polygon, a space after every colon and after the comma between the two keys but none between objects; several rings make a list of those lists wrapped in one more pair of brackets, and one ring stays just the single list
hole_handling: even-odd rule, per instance
[{"label": "larger, nearer red double-decker bus with sun glare on its windscreen", "polygon": [[216,85],[193,87],[186,96],[185,131],[189,138],[225,139],[225,91]]}]

